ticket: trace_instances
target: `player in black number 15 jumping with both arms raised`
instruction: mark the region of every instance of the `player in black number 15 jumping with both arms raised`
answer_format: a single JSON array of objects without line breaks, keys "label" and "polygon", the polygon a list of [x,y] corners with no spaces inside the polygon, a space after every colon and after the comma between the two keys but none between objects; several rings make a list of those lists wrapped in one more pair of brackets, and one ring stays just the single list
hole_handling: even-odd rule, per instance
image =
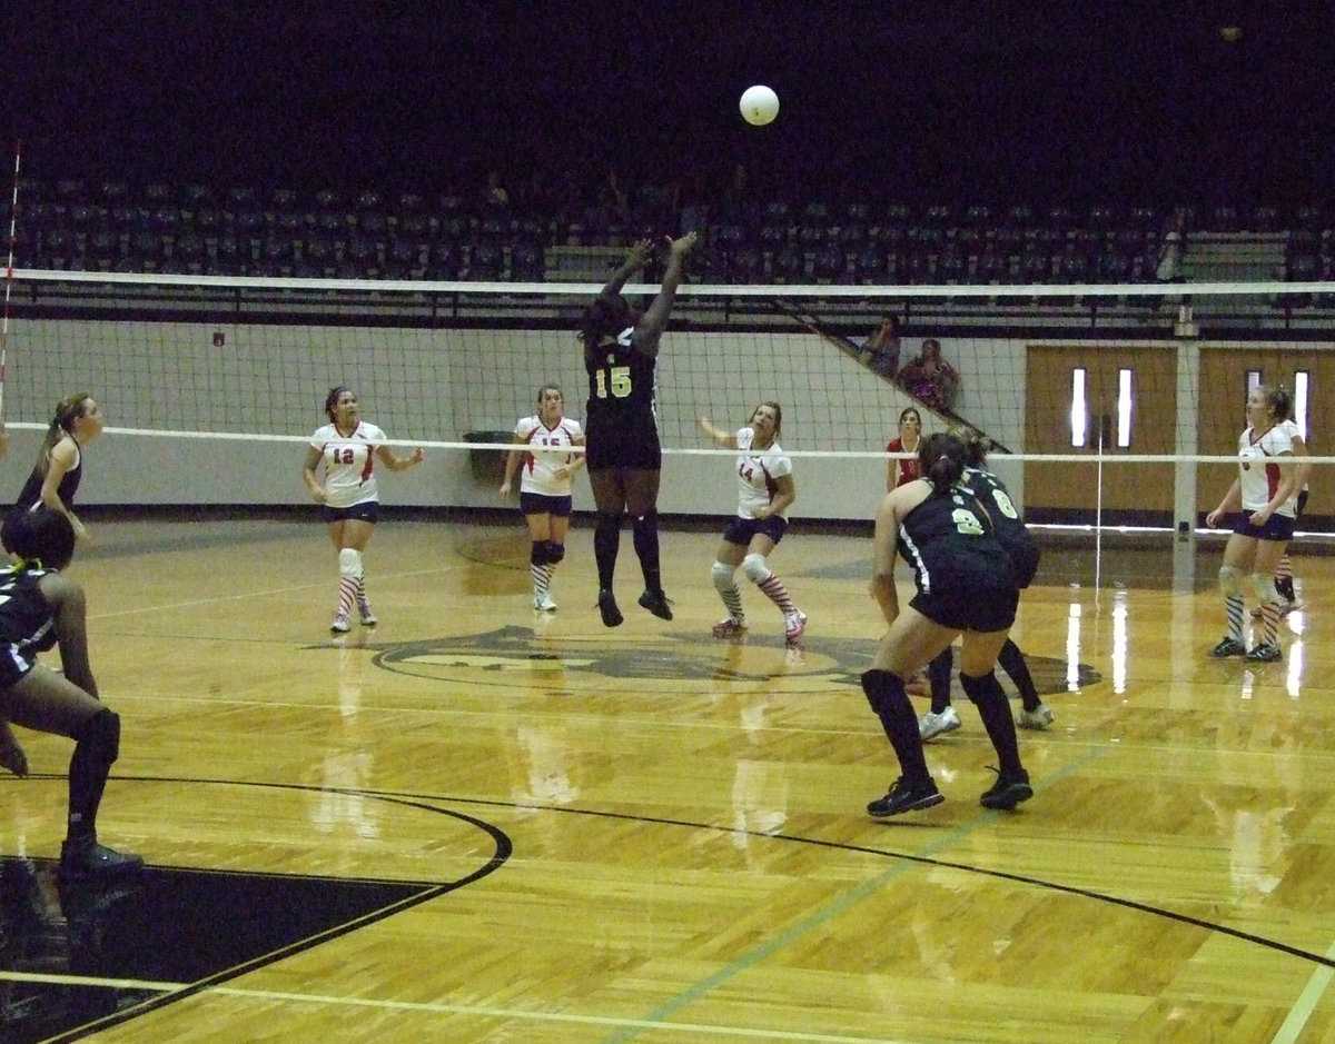
[{"label": "player in black number 15 jumping with both arms raised", "polygon": [[649,260],[651,244],[642,239],[585,311],[579,339],[589,374],[585,407],[585,457],[598,522],[593,551],[598,563],[598,611],[602,622],[622,622],[613,593],[613,574],[621,546],[621,519],[631,517],[635,555],[645,575],[639,605],[672,619],[658,565],[658,481],[662,450],[654,417],[654,367],[658,340],[668,326],[681,284],[682,262],[696,246],[696,234],[668,244],[662,288],[641,315],[621,295],[626,280]]}]

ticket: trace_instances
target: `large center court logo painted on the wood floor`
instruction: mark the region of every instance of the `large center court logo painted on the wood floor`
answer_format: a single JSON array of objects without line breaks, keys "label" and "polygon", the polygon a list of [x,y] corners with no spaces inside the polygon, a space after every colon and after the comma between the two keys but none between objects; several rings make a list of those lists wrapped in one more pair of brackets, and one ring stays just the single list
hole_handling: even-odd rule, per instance
[{"label": "large center court logo painted on the wood floor", "polygon": [[[318,647],[342,647],[338,643]],[[417,642],[362,646],[375,653],[372,664],[418,678],[469,686],[515,684],[562,685],[579,676],[645,682],[645,693],[700,692],[701,684],[766,685],[776,692],[814,692],[832,685],[857,686],[870,666],[876,641],[828,638],[788,646],[781,637],[749,635],[742,642],[702,639],[696,631],[617,642],[607,635],[547,637],[507,625],[481,634],[427,638]],[[1068,692],[1067,665],[1029,657],[1039,692]],[[1100,681],[1085,665],[1077,668],[1077,688]],[[653,685],[649,685],[653,682]]]}]

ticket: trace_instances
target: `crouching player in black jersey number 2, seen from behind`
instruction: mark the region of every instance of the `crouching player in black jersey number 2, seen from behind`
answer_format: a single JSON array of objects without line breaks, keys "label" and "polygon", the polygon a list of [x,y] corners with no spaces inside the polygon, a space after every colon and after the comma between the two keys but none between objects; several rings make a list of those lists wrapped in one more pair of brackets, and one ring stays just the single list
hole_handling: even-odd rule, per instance
[{"label": "crouching player in black jersey number 2, seen from behind", "polygon": [[[876,513],[876,567],[872,594],[889,630],[877,646],[862,692],[881,720],[900,761],[901,776],[889,792],[868,804],[876,817],[932,808],[945,798],[926,768],[917,718],[904,678],[963,635],[960,684],[979,708],[1001,768],[980,801],[1011,809],[1033,797],[1020,764],[1015,721],[993,669],[1020,601],[1016,567],[996,523],[961,483],[968,449],[937,433],[918,450],[924,478],[885,495]],[[896,550],[914,573],[917,594],[900,609],[894,587]]]}]

